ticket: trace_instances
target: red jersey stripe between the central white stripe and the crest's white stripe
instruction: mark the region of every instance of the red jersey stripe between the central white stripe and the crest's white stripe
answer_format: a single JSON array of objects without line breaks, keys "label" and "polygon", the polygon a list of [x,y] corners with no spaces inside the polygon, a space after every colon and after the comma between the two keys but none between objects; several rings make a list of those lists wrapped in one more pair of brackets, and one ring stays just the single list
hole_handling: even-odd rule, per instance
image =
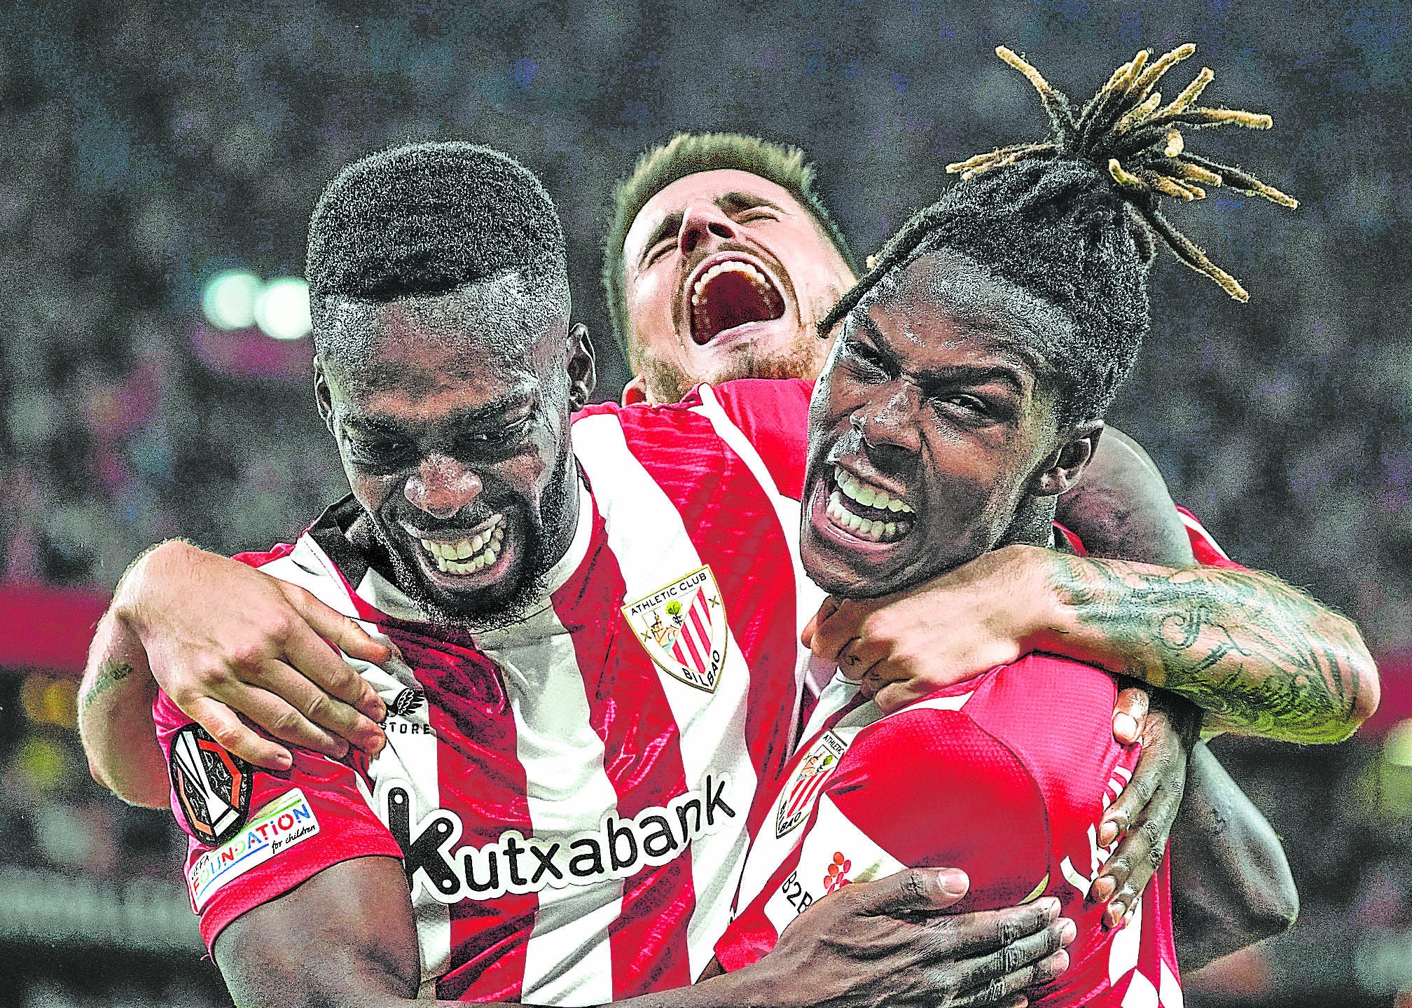
[{"label": "red jersey stripe between the central white stripe and the crest's white stripe", "polygon": [[[681,731],[657,666],[637,641],[614,644],[620,634],[633,635],[618,613],[626,590],[594,510],[587,559],[554,593],[554,611],[573,635],[589,723],[603,740],[603,769],[623,819],[686,791]],[[623,911],[609,925],[614,1001],[692,983],[686,953],[686,923],[696,908],[690,865],[688,848],[624,880]]]}]

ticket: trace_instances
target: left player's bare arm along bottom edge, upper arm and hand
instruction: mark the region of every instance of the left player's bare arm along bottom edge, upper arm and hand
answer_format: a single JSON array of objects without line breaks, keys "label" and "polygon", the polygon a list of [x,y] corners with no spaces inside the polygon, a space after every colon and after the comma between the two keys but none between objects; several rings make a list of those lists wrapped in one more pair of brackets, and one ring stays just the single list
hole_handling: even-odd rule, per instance
[{"label": "left player's bare arm along bottom edge, upper arm and hand", "polygon": [[[803,926],[791,928],[786,940],[750,967],[614,1004],[871,1008],[923,995],[957,1008],[1011,1004],[1011,991],[1032,978],[1035,960],[1062,954],[1053,952],[1058,911],[1029,906],[938,923],[935,915],[960,898],[942,888],[956,874],[912,871],[861,884],[809,908]],[[1007,946],[1001,932],[1022,937]],[[977,959],[977,949],[987,954]],[[243,913],[216,937],[215,957],[237,1005],[426,1004],[415,1001],[421,963],[407,880],[388,857],[342,861]],[[805,974],[808,984],[799,983]]]}]

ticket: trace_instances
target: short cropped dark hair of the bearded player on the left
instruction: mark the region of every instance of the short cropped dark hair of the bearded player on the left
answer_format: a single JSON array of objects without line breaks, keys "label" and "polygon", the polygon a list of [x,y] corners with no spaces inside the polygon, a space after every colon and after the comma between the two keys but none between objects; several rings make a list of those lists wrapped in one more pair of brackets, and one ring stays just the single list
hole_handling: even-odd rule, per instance
[{"label": "short cropped dark hair of the bearded player on the left", "polygon": [[340,171],[309,219],[305,270],[316,340],[335,295],[385,302],[518,271],[568,298],[563,227],[539,179],[467,143],[393,147]]}]

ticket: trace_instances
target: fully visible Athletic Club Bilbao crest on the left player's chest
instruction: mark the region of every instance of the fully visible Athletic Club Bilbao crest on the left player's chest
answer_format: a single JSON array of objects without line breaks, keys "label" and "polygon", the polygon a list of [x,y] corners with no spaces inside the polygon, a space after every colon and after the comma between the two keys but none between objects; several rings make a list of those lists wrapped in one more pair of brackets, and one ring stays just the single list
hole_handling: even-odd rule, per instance
[{"label": "fully visible Athletic Club Bilbao crest on the left player's chest", "polygon": [[726,606],[710,568],[630,601],[623,616],[647,654],[688,686],[716,692],[726,665]]}]

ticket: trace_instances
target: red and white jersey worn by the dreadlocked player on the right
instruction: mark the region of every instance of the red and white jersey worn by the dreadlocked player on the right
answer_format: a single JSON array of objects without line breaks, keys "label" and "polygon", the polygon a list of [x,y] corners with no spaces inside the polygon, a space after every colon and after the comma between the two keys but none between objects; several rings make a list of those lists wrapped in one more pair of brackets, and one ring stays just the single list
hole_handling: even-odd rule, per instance
[{"label": "red and white jersey worn by the dreadlocked player on the right", "polygon": [[1166,865],[1117,932],[1086,902],[1117,846],[1099,846],[1099,820],[1139,751],[1113,738],[1115,699],[1103,672],[1038,654],[890,716],[832,682],[820,710],[836,713],[791,760],[753,841],[722,964],[755,961],[850,882],[955,865],[971,881],[956,912],[1055,895],[1077,925],[1069,968],[1031,1004],[1180,1008]]}]

